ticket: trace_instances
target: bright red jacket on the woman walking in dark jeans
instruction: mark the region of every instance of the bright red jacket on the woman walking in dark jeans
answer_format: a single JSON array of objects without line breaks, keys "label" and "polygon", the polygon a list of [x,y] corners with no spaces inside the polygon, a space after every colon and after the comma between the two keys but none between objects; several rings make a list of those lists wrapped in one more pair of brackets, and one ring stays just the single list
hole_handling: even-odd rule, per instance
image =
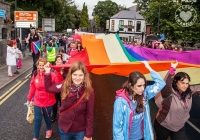
[{"label": "bright red jacket on the woman walking in dark jeans", "polygon": [[[58,83],[62,80],[60,75],[56,75],[51,72],[52,82]],[[44,87],[44,73],[40,75],[37,71],[37,75],[33,75],[30,82],[29,94],[27,97],[28,101],[31,101],[34,97],[34,105],[39,107],[52,106],[56,103],[55,95],[47,92]]]}]

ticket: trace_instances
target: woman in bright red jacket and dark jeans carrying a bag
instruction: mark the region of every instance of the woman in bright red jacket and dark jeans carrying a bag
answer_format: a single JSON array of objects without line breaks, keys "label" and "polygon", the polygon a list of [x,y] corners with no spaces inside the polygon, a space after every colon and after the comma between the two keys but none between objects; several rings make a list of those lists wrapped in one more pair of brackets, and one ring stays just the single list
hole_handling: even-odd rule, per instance
[{"label": "woman in bright red jacket and dark jeans carrying a bag", "polygon": [[[29,94],[27,96],[27,104],[30,103],[34,97],[34,139],[38,140],[40,127],[42,124],[42,117],[46,122],[46,138],[52,135],[51,129],[51,111],[53,105],[56,103],[55,96],[45,90],[44,87],[44,65],[47,63],[45,58],[39,58],[36,65],[37,71],[34,71],[31,82]],[[53,72],[50,73],[52,82],[60,82],[61,77],[56,76]]]}]

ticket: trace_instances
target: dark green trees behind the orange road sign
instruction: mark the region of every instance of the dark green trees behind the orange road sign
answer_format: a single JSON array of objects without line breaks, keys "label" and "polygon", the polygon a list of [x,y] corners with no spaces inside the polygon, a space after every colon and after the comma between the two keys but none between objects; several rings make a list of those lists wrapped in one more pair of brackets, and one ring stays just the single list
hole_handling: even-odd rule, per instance
[{"label": "dark green trees behind the orange road sign", "polygon": [[[5,0],[11,4],[11,18],[14,20],[15,0]],[[42,18],[55,18],[56,31],[77,28],[80,24],[80,11],[74,0],[17,0],[18,11],[38,11],[38,26]]]}]

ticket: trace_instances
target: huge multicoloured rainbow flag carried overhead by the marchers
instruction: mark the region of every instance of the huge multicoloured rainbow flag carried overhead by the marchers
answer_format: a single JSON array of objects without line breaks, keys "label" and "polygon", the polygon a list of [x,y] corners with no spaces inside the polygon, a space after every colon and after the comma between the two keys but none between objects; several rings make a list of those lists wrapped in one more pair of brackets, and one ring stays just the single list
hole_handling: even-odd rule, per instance
[{"label": "huge multicoloured rainbow flag carried overhead by the marchers", "polygon": [[76,60],[85,63],[94,74],[116,74],[128,76],[132,71],[145,74],[151,80],[149,71],[142,60],[149,61],[150,66],[164,78],[171,62],[177,60],[177,71],[187,72],[191,84],[200,83],[200,51],[174,52],[171,50],[155,50],[142,47],[124,46],[117,34],[81,35],[85,50],[70,58],[62,67],[69,67]]}]

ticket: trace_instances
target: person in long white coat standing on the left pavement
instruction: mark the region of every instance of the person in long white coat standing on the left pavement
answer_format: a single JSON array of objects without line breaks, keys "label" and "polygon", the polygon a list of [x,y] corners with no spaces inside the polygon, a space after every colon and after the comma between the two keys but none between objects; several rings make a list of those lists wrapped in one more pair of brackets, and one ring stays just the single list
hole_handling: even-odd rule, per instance
[{"label": "person in long white coat standing on the left pavement", "polygon": [[13,46],[13,41],[9,40],[7,43],[7,55],[6,55],[6,64],[8,65],[8,76],[13,77],[12,67],[16,66],[16,48],[17,45]]}]

